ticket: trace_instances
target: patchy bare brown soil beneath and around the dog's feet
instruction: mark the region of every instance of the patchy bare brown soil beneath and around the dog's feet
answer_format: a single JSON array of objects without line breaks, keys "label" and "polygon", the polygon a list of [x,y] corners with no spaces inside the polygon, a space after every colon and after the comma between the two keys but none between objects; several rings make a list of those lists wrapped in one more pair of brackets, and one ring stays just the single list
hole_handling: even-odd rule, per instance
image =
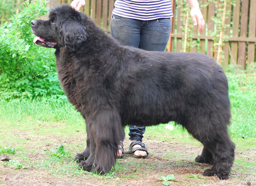
[{"label": "patchy bare brown soil beneath and around the dog's feet", "polygon": [[[44,140],[44,137],[38,138],[38,141]],[[57,139],[53,139],[55,141]],[[60,140],[60,139],[58,139]],[[79,138],[62,139],[67,143],[79,143],[85,141],[84,136]],[[37,142],[37,141],[34,141]],[[235,164],[232,168],[229,180],[219,180],[217,177],[205,177],[202,173],[206,168],[211,166],[208,164],[195,163],[194,158],[197,154],[201,154],[203,146],[193,146],[181,142],[164,142],[159,139],[145,138],[146,147],[150,152],[148,159],[135,159],[127,153],[129,148],[129,140],[124,141],[125,156],[123,159],[117,160],[118,170],[112,178],[104,178],[102,176],[92,175],[84,172],[81,175],[62,174],[56,176],[51,173],[51,168],[29,167],[28,169],[12,169],[4,166],[0,161],[0,185],[140,185],[140,186],[156,186],[163,183],[157,177],[174,174],[176,181],[170,181],[170,185],[245,185],[248,184],[247,179],[256,179],[252,173],[254,170],[248,169],[246,173],[241,173],[241,166]],[[35,143],[40,144],[40,143]],[[42,153],[36,152],[31,154],[28,159],[40,160],[47,158],[43,151],[49,150],[52,144],[43,143]],[[75,144],[74,144],[75,145]],[[76,144],[77,145],[77,144]],[[35,146],[34,146],[35,147]],[[38,147],[39,148],[39,147]],[[236,157],[248,158],[248,161],[256,161],[255,152],[236,152]],[[196,177],[190,178],[191,175]],[[256,184],[253,180],[251,184]]]}]

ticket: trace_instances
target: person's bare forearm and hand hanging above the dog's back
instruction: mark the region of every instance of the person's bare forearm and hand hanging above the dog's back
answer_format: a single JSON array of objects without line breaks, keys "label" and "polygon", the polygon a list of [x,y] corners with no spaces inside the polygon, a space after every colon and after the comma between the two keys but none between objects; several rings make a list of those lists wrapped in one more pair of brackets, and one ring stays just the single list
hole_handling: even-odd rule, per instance
[{"label": "person's bare forearm and hand hanging above the dog's back", "polygon": [[204,17],[202,12],[200,11],[199,4],[197,0],[187,0],[188,4],[191,7],[190,16],[193,21],[193,25],[198,25],[198,32],[202,33],[204,29]]}]

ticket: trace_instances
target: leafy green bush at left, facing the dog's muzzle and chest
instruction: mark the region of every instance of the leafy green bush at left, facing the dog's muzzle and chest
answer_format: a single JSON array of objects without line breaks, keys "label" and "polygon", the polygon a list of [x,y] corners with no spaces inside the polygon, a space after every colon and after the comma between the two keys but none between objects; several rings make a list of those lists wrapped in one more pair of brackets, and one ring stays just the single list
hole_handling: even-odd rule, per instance
[{"label": "leafy green bush at left, facing the dog's muzzle and chest", "polygon": [[54,49],[33,43],[30,22],[48,12],[46,1],[25,1],[24,9],[0,26],[0,95],[4,99],[63,95]]}]

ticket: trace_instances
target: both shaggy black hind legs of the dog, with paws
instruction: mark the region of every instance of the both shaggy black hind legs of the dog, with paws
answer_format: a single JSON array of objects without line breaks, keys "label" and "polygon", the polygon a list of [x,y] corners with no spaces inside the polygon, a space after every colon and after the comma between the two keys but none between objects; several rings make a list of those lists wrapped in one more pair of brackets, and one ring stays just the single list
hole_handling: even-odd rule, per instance
[{"label": "both shaggy black hind legs of the dog, with paws", "polygon": [[[221,118],[221,116],[219,117]],[[198,114],[197,119],[195,117],[193,119],[191,118],[192,123],[186,128],[204,145],[202,155],[197,157],[196,161],[212,162],[213,164],[212,168],[206,169],[203,175],[217,175],[220,179],[228,179],[234,161],[235,145],[229,137],[227,123],[223,124],[221,120],[202,114]]]}]

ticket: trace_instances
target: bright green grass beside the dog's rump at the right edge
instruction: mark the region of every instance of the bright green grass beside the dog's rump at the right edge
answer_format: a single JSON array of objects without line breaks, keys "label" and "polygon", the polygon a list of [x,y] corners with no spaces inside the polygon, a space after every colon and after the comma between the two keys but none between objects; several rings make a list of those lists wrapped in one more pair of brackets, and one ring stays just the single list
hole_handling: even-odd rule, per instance
[{"label": "bright green grass beside the dog's rump at the right edge", "polygon": [[249,79],[242,90],[235,74],[229,73],[227,76],[232,111],[230,134],[245,138],[256,137],[256,82]]}]

